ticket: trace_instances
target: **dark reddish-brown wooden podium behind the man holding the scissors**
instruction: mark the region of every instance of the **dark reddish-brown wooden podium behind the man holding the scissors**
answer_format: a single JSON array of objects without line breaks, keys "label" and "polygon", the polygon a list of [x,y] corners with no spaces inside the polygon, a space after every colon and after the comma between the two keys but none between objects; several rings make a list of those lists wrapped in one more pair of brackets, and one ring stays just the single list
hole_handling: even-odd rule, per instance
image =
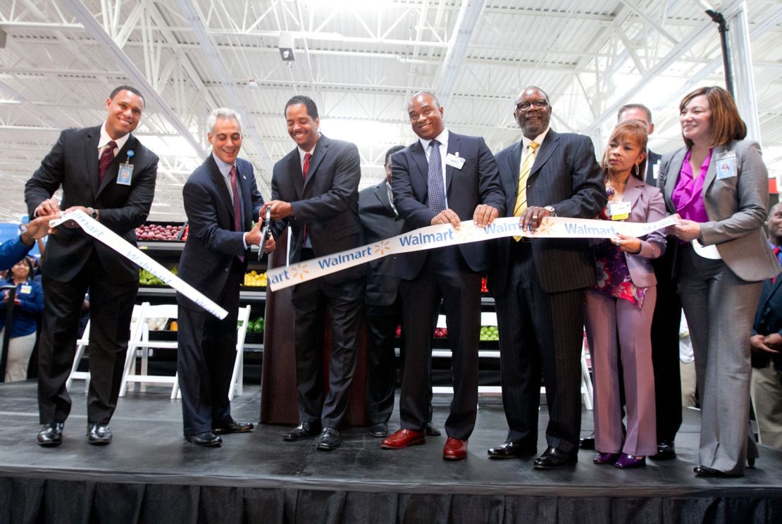
[{"label": "dark reddish-brown wooden podium behind the man holding the scissors", "polygon": [[[277,249],[269,255],[269,268],[285,265],[288,231],[277,239]],[[265,424],[296,424],[299,404],[296,397],[296,351],[293,336],[292,287],[266,292],[264,321],[264,367],[260,384],[260,422]],[[328,359],[331,336],[328,318],[325,321],[323,373],[324,389],[328,391]],[[357,348],[356,371],[350,386],[346,425],[367,425],[367,334],[362,325]]]}]

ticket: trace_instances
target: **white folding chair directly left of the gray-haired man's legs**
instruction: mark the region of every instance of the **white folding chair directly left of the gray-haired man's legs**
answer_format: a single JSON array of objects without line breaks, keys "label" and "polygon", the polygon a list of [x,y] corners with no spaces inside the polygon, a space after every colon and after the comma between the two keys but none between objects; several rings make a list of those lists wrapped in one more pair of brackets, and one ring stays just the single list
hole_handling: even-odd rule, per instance
[{"label": "white folding chair directly left of the gray-haired man's legs", "polygon": [[[148,364],[149,357],[153,354],[154,350],[176,350],[176,341],[165,340],[150,340],[149,332],[153,331],[149,328],[150,319],[166,318],[169,320],[176,320],[178,315],[178,309],[176,304],[161,304],[152,306],[148,302],[142,304],[142,314],[139,317],[139,328],[137,330],[138,336],[127,344],[127,359],[125,361],[125,371],[122,376],[122,383],[120,384],[120,397],[124,397],[127,393],[128,385],[138,383],[140,385],[140,391],[146,391],[147,384],[170,384],[171,385],[171,399],[178,397],[179,393],[179,377],[177,374],[171,375],[149,375]],[[138,360],[138,372],[136,372]],[[180,395],[181,396],[181,395]]]}]

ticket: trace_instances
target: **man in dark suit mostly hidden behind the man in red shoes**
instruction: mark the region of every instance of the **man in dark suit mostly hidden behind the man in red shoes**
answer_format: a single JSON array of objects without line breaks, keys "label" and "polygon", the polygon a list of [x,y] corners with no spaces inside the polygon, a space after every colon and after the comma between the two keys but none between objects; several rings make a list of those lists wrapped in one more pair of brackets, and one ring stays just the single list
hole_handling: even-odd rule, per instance
[{"label": "man in dark suit mostly hidden behind the man in red shoes", "polygon": [[[394,145],[386,151],[386,180],[358,194],[358,216],[364,228],[364,242],[371,244],[399,235],[404,221],[393,205],[391,192],[391,155],[404,149]],[[388,436],[388,422],[393,411],[393,392],[396,384],[394,335],[402,320],[402,299],[399,278],[394,276],[393,258],[385,257],[369,263],[367,289],[364,293],[364,320],[367,325],[369,350],[367,382],[367,416],[369,432],[378,438]],[[404,351],[400,352],[404,358]],[[431,389],[429,397],[431,399]],[[432,425],[432,406],[426,434],[438,436]]]}]

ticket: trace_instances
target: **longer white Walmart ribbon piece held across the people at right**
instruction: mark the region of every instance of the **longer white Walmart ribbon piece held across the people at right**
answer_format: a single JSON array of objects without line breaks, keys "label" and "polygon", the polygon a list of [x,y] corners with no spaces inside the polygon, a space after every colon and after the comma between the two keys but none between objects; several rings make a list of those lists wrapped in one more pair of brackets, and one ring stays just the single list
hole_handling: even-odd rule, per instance
[{"label": "longer white Walmart ribbon piece held across the people at right", "polygon": [[500,239],[506,236],[523,236],[533,239],[613,239],[620,233],[640,237],[673,224],[678,224],[677,219],[673,217],[665,217],[649,224],[587,220],[586,218],[545,217],[534,233],[522,231],[518,217],[497,218],[486,228],[479,228],[472,221],[462,222],[458,229],[454,229],[450,224],[432,225],[367,246],[348,249],[292,265],[274,267],[267,273],[268,285],[269,289],[277,291],[290,285],[342,271],[348,267],[388,257],[394,253],[456,246],[457,244]]}]

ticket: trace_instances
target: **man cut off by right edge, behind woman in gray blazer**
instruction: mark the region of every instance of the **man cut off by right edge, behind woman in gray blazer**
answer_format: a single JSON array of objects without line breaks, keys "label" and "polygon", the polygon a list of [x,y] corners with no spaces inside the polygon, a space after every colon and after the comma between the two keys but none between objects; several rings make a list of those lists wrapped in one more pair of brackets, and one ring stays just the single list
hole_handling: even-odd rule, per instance
[{"label": "man cut off by right edge, behind woman in gray blazer", "polygon": [[[782,264],[782,203],[769,212],[769,246]],[[782,278],[763,282],[752,325],[752,405],[760,443],[782,450]]]}]

